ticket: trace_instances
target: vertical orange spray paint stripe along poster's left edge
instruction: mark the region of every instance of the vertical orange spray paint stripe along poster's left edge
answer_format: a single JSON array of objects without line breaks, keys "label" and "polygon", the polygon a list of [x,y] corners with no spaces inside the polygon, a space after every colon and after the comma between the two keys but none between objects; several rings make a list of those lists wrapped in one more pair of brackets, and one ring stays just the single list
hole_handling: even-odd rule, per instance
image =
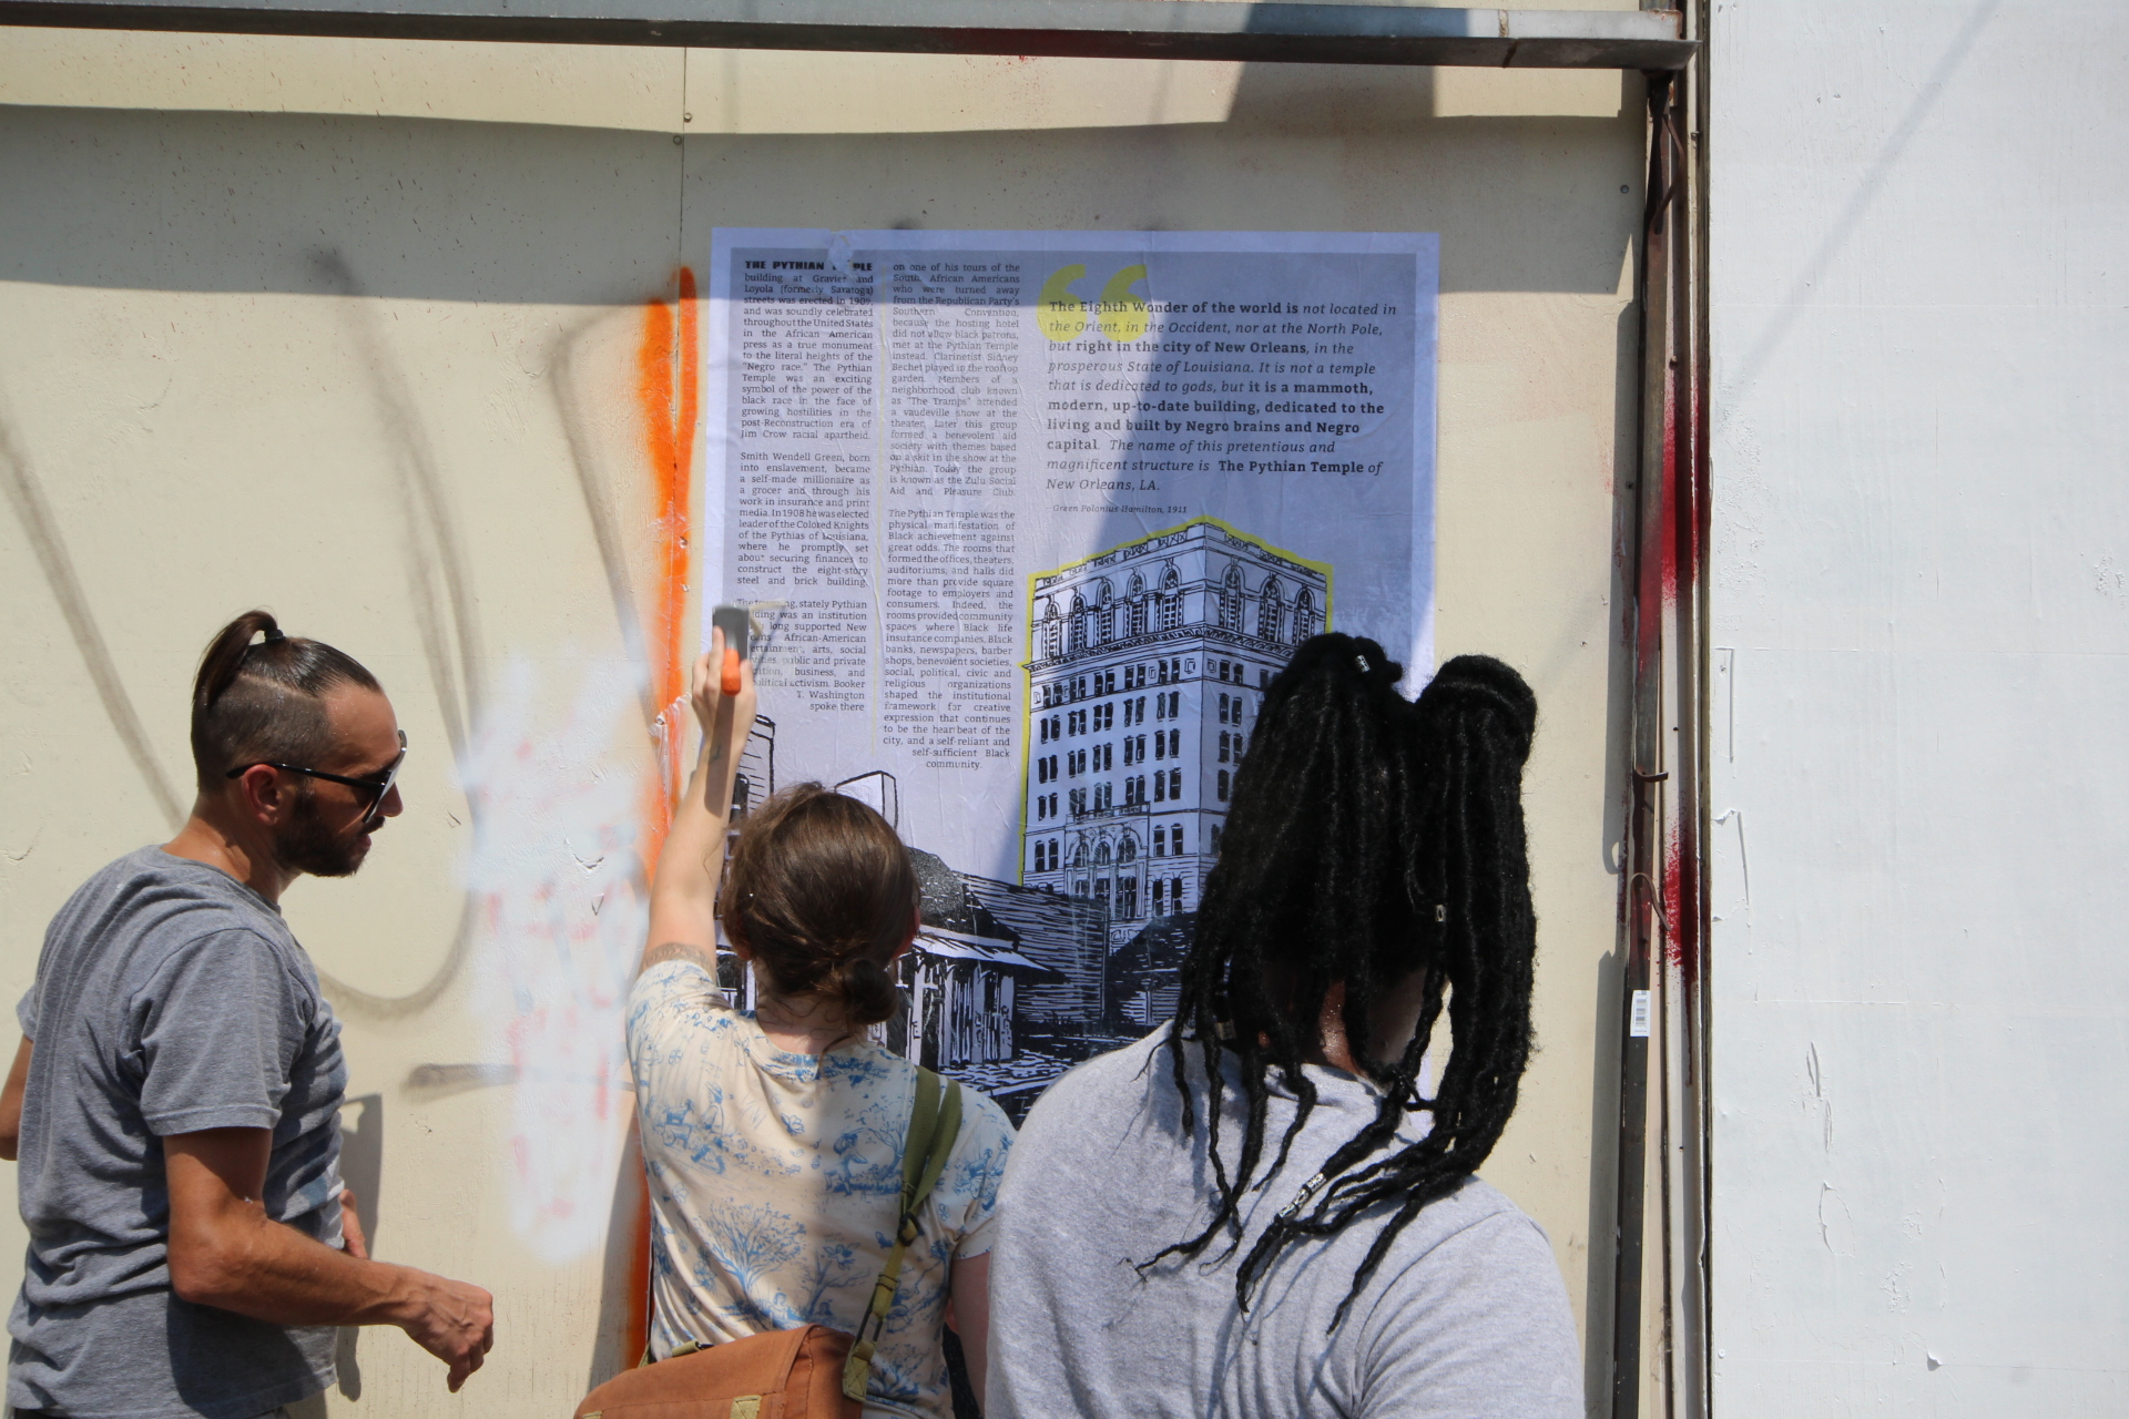
[{"label": "vertical orange spray paint stripe along poster's left edge", "polygon": [[[675,272],[675,302],[643,302],[643,340],[637,345],[637,411],[643,417],[645,462],[651,491],[651,606],[645,617],[645,653],[654,702],[671,708],[688,689],[690,508],[694,502],[694,434],[703,408],[700,343],[694,272]],[[643,785],[643,862],[656,872],[666,830],[673,825],[675,789],[683,783],[686,713],[666,723],[664,764]],[[637,1187],[643,1187],[641,1168]],[[630,1238],[628,1311],[622,1364],[632,1366],[649,1340],[651,1200],[639,1191],[637,1234]]]}]

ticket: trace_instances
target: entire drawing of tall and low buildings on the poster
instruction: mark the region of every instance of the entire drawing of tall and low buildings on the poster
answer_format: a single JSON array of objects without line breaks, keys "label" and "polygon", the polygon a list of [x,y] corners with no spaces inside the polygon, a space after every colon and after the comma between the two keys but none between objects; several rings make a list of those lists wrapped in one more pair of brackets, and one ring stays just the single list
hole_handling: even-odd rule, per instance
[{"label": "entire drawing of tall and low buildings on the poster", "polygon": [[[1020,881],[911,845],[920,923],[901,1008],[873,1028],[1016,1119],[1073,1062],[1175,1011],[1235,770],[1271,677],[1328,621],[1331,568],[1201,517],[1043,572],[1030,598]],[[735,830],[775,787],[760,717]],[[835,791],[901,830],[892,772]],[[737,957],[720,979],[752,1008]]]}]

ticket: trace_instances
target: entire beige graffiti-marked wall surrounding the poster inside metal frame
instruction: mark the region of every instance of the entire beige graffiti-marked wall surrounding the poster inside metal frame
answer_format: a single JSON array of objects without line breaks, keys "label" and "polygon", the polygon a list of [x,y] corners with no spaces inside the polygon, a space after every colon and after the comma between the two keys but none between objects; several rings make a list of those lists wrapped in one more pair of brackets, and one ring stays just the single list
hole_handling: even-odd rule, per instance
[{"label": "entire beige graffiti-marked wall surrounding the poster inside metal frame", "polygon": [[[432,53],[453,49],[479,70],[507,47]],[[722,60],[688,57],[690,104]],[[792,91],[849,72],[745,60],[741,77]],[[1552,1234],[1578,1313],[1590,1298],[1601,1313],[1588,1238],[1610,1217],[1612,474],[1631,447],[1637,94],[1618,77],[1211,66],[1188,102],[1148,98],[1169,70],[907,62],[839,96],[832,123],[803,104],[749,117],[741,85],[692,126],[724,115],[735,132],[683,143],[558,126],[571,119],[311,113],[324,100],[0,108],[0,189],[17,194],[0,204],[0,587],[15,608],[0,619],[0,989],[28,985],[45,919],[87,872],[166,832],[162,800],[187,796],[187,677],[226,615],[264,602],[364,657],[415,745],[409,811],[373,866],[296,887],[290,917],[336,981],[351,1094],[375,1096],[347,1125],[351,1172],[379,1179],[379,1247],[492,1285],[500,1340],[447,1398],[411,1345],[366,1334],[360,1400],[330,1408],[566,1413],[613,1353],[624,1285],[605,1221],[624,1189],[605,1181],[583,1225],[528,1219],[522,1159],[541,1108],[611,1155],[626,1094],[505,1068],[522,962],[468,913],[468,872],[498,859],[481,857],[475,811],[547,808],[496,800],[468,749],[515,734],[537,751],[524,781],[564,821],[600,783],[641,798],[654,779],[634,634],[658,600],[643,302],[671,291],[679,260],[700,264],[711,226],[1441,234],[1437,638],[1443,655],[1518,664],[1544,706],[1529,777],[1541,1053],[1488,1176]],[[360,64],[334,72],[339,89],[309,91],[345,96]],[[845,132],[762,132],[807,121]],[[138,751],[121,732],[134,719]],[[639,851],[632,811],[607,813],[617,851]],[[556,900],[571,930],[609,930],[594,902],[630,911],[626,881]],[[0,1249],[19,1245],[6,1215]]]}]

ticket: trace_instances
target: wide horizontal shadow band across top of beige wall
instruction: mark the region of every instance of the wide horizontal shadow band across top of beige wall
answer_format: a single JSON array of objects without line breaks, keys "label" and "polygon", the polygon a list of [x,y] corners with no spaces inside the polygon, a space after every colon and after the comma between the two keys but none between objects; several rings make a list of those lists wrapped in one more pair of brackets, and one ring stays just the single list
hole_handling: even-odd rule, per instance
[{"label": "wide horizontal shadow band across top of beige wall", "polygon": [[[1618,289],[1639,119],[1435,117],[1429,70],[1243,66],[1224,123],[669,134],[436,119],[0,108],[0,277],[624,306],[711,226],[1394,230],[1443,291]],[[1635,140],[1620,143],[1622,123]],[[975,177],[973,174],[981,174]],[[172,194],[155,219],[121,194]],[[683,213],[679,219],[677,213]],[[669,230],[658,266],[645,234]],[[585,253],[615,253],[585,262]],[[622,255],[622,253],[634,253]]]}]

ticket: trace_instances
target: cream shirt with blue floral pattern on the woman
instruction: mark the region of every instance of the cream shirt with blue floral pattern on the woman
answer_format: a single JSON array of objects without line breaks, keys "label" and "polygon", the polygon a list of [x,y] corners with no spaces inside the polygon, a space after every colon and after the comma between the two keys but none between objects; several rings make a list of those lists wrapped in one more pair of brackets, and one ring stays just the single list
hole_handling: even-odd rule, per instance
[{"label": "cream shirt with blue floral pattern on the woman", "polygon": [[[894,1245],[915,1066],[871,1040],[794,1055],[696,962],[628,998],[651,1191],[651,1351],[764,1330],[856,1332]],[[867,1415],[950,1419],[941,1330],[954,1257],[990,1251],[1013,1128],[962,1087],[962,1123],[903,1259]]]}]

